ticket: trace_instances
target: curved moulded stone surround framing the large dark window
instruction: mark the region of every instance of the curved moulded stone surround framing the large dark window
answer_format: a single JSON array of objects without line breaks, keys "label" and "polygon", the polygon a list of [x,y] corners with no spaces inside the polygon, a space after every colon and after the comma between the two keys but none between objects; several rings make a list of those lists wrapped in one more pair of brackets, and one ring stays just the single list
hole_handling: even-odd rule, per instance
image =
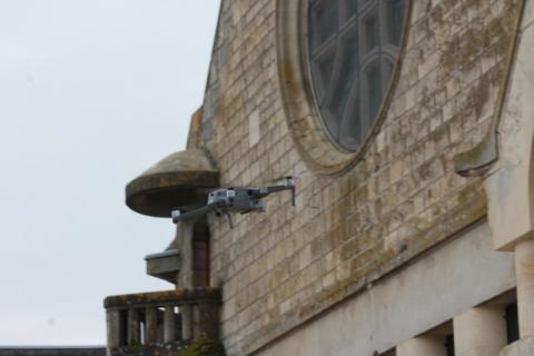
[{"label": "curved moulded stone surround framing the large dark window", "polygon": [[318,108],[314,103],[310,88],[310,73],[303,53],[306,52],[306,13],[304,0],[276,1],[276,50],[278,83],[289,132],[295,146],[309,169],[318,175],[340,175],[353,168],[367,151],[372,140],[378,134],[393,100],[403,60],[406,41],[409,37],[413,1],[408,1],[405,29],[399,46],[399,55],[394,66],[388,89],[378,110],[379,113],[356,151],[337,147],[326,134],[319,119]]}]

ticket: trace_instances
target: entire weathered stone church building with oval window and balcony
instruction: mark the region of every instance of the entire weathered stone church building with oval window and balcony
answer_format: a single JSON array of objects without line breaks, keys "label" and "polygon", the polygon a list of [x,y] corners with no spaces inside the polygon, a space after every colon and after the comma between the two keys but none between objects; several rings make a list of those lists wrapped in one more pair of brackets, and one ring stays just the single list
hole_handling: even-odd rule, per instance
[{"label": "entire weathered stone church building with oval window and balcony", "polygon": [[109,355],[534,355],[534,0],[222,0],[207,77],[127,205],[295,207],[179,221]]}]

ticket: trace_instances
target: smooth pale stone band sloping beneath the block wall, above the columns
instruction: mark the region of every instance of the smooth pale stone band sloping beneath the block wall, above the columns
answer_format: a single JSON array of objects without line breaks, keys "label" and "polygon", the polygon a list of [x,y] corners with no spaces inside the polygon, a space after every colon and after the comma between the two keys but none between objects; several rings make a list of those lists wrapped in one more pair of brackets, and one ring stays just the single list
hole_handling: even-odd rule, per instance
[{"label": "smooth pale stone band sloping beneath the block wall, above the columns", "polygon": [[[495,251],[487,234],[487,224],[477,224],[253,355],[383,356],[407,339],[435,330],[514,287],[513,254]],[[269,339],[259,333],[255,336],[258,344]],[[413,356],[411,347],[404,350]]]}]

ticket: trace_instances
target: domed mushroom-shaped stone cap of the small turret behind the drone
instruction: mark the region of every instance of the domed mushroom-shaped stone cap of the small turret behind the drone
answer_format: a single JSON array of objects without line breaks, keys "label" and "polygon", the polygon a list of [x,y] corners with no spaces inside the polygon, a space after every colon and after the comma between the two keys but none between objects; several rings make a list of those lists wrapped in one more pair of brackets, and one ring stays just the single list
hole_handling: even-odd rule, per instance
[{"label": "domed mushroom-shaped stone cap of the small turret behind the drone", "polygon": [[169,218],[170,211],[206,199],[218,187],[219,172],[201,149],[175,152],[126,186],[126,205],[134,211]]}]

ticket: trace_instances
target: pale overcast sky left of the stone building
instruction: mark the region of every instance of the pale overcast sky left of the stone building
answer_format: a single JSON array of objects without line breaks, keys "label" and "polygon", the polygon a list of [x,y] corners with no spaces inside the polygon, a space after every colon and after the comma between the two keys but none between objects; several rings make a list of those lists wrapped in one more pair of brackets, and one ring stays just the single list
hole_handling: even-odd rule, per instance
[{"label": "pale overcast sky left of the stone building", "polygon": [[218,4],[0,0],[0,345],[103,345],[107,295],[174,287],[123,188],[185,148]]}]

